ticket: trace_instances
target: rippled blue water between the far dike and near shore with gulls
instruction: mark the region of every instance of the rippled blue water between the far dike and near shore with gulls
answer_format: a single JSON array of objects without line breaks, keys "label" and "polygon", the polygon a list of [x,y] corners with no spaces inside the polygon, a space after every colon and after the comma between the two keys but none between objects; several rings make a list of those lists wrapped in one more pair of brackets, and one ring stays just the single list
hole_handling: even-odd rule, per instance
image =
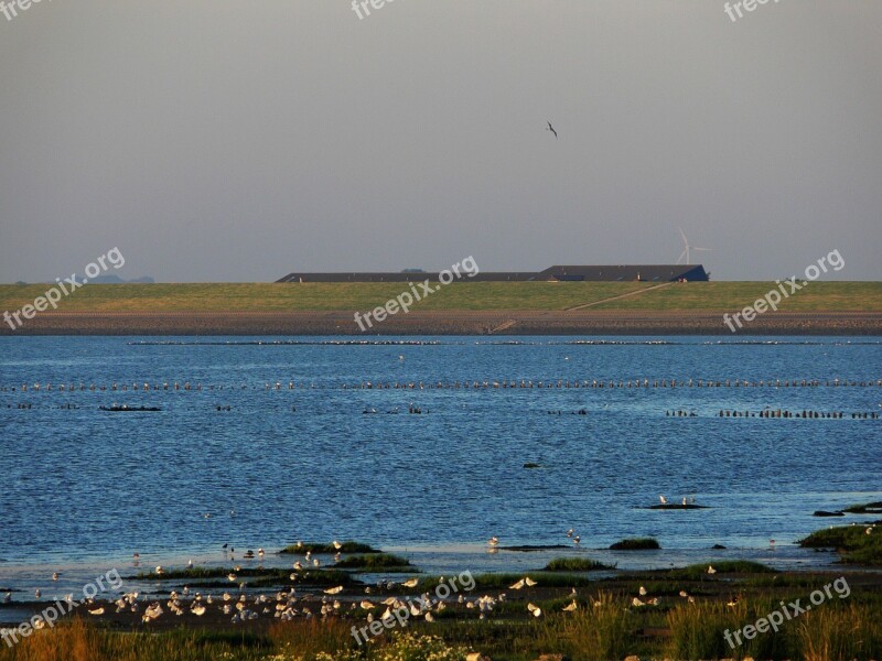
[{"label": "rippled blue water between the far dike and near shore with gulls", "polygon": [[[686,555],[714,543],[767,550],[842,521],[814,519],[816,509],[882,498],[882,420],[849,418],[882,412],[875,339],[0,339],[0,585],[28,564],[298,539],[481,551],[491,535],[570,543],[563,533],[576,528],[589,549],[652,535]],[[824,384],[837,378],[873,384]],[[556,387],[594,379],[821,386]],[[466,380],[555,387],[433,387]],[[361,389],[367,381],[423,389]],[[162,411],[98,409],[114,403]],[[411,404],[422,413],[408,414]],[[717,416],[764,407],[847,418]],[[570,413],[580,409],[588,414]],[[666,416],[671,409],[697,415]],[[647,509],[659,494],[711,509]]]}]

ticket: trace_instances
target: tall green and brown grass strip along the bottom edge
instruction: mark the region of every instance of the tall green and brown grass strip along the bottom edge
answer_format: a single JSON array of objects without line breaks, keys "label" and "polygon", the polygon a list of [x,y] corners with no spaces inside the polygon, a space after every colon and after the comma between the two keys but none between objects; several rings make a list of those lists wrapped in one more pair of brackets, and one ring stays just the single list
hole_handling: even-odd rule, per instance
[{"label": "tall green and brown grass strip along the bottom edge", "polygon": [[[0,646],[0,661],[465,661],[469,652],[495,661],[531,661],[545,653],[572,661],[641,658],[805,659],[869,661],[882,657],[882,598],[835,599],[784,621],[776,631],[729,647],[725,633],[741,630],[779,608],[776,597],[723,602],[685,600],[666,608],[634,609],[601,592],[561,613],[540,604],[539,619],[411,622],[359,647],[352,620],[301,619],[260,631],[207,632],[179,629],[149,633],[101,629],[73,620],[32,635],[12,648]],[[655,631],[655,633],[653,633]]]}]

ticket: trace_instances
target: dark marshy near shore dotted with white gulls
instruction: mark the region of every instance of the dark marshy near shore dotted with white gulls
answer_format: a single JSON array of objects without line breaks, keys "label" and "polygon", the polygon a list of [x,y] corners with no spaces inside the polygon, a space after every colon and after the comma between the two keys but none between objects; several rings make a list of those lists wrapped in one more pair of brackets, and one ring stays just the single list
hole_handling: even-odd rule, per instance
[{"label": "dark marshy near shore dotted with white gulls", "polygon": [[[131,584],[126,584],[127,576],[119,574],[120,581],[112,589],[94,602],[75,600],[72,607],[66,607],[62,600],[49,605],[22,598],[2,605],[0,630],[6,632],[12,648],[19,638],[26,640],[31,636],[29,622],[52,613],[52,633],[43,633],[56,637],[58,644],[69,647],[74,640],[100,637],[104,643],[114,641],[114,649],[129,644],[143,651],[148,641],[152,641],[162,652],[155,658],[175,659],[180,658],[176,652],[182,637],[204,640],[232,633],[243,639],[241,655],[225,658],[249,660],[314,658],[288,655],[292,652],[291,641],[298,639],[304,641],[312,654],[321,649],[329,657],[337,658],[343,650],[352,652],[368,640],[372,647],[395,646],[405,629],[417,637],[437,637],[432,640],[441,641],[442,646],[467,647],[454,658],[465,658],[466,651],[472,652],[469,658],[486,659],[490,654],[492,659],[515,660],[621,659],[635,653],[638,658],[653,659],[723,658],[721,652],[740,647],[733,643],[727,647],[727,633],[746,631],[750,622],[759,624],[757,618],[764,616],[772,619],[767,614],[781,608],[785,600],[797,606],[787,618],[779,618],[778,625],[784,631],[777,644],[788,636],[788,630],[796,632],[797,626],[811,627],[815,636],[832,638],[838,631],[856,635],[863,630],[872,637],[876,630],[872,622],[878,621],[882,585],[878,567],[861,571],[839,565],[794,572],[741,561],[714,562],[713,565],[702,563],[648,571],[613,568],[612,572],[510,567],[514,571],[498,576],[472,571],[458,574],[452,570],[444,572],[448,579],[413,566],[410,572],[391,575],[356,572],[330,583],[301,584],[294,582],[292,575],[291,581],[279,577],[254,587],[223,581],[219,586],[200,584],[195,577],[175,575],[153,579],[149,587],[137,586],[136,592]],[[239,572],[239,568],[224,571]],[[240,573],[251,577],[247,581],[255,579],[254,572],[249,574],[243,570]],[[460,585],[455,583],[458,579]],[[185,587],[187,585],[191,587]],[[843,602],[849,597],[853,600]],[[800,600],[806,607],[798,610]],[[825,605],[825,602],[830,603]],[[824,607],[824,621],[818,622],[807,615],[813,606]],[[58,613],[60,626],[55,628],[54,618]],[[802,617],[797,617],[799,615]],[[787,624],[789,616],[795,620],[793,625]],[[582,657],[584,640],[591,638],[573,637],[573,629],[583,627],[593,636],[610,617],[616,618],[616,629],[621,632],[614,647],[604,647],[602,657]],[[832,633],[826,619],[829,617],[836,618]],[[314,638],[316,629],[321,632],[320,639]],[[370,633],[364,633],[363,639],[356,637],[356,631],[368,630]],[[501,635],[509,638],[514,631],[520,640],[518,649],[503,643],[499,638]],[[684,636],[692,639],[697,632],[701,633],[704,647],[680,650],[678,641]],[[11,638],[13,633],[14,639]],[[777,633],[776,628],[774,633],[768,633],[771,640],[763,644],[775,644]],[[132,636],[135,638],[130,638]],[[123,642],[126,640],[130,642]],[[872,644],[878,646],[879,640],[873,640]],[[316,642],[319,647],[312,647]],[[34,641],[22,641],[24,646],[29,643]],[[802,658],[802,643],[792,644],[792,653],[785,658]],[[228,649],[223,646],[223,642],[217,644],[217,651],[226,653]],[[254,655],[244,653],[248,647],[258,648]],[[751,649],[745,648],[744,652]],[[207,651],[204,644],[201,650]],[[524,650],[529,650],[531,655],[524,657]],[[874,647],[862,651],[868,655],[846,658],[878,658]],[[268,657],[269,652],[283,655]],[[549,652],[553,655],[542,655]],[[768,658],[767,652],[757,657]],[[3,658],[2,650],[0,658]],[[376,657],[369,653],[368,658]],[[727,654],[725,658],[732,657]]]}]

